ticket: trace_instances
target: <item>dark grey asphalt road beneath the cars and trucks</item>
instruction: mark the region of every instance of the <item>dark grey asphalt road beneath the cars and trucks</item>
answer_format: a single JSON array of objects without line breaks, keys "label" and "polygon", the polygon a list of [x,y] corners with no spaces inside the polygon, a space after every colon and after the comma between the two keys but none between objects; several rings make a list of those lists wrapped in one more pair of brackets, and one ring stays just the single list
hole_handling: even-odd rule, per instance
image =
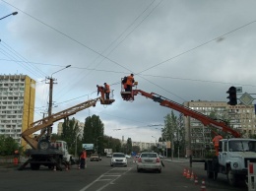
[{"label": "dark grey asphalt road beneath the cars and trucks", "polygon": [[[203,163],[188,160],[164,160],[161,173],[143,171],[138,173],[136,162],[129,159],[128,166],[110,166],[109,158],[101,161],[88,161],[86,169],[78,169],[76,165],[70,170],[54,171],[46,167],[39,170],[26,168],[0,168],[1,191],[200,191],[205,179],[207,191],[247,191],[244,184],[236,187],[227,184],[224,175],[218,180],[208,180]],[[183,176],[184,169],[190,169],[198,176],[198,184],[191,178]]]}]

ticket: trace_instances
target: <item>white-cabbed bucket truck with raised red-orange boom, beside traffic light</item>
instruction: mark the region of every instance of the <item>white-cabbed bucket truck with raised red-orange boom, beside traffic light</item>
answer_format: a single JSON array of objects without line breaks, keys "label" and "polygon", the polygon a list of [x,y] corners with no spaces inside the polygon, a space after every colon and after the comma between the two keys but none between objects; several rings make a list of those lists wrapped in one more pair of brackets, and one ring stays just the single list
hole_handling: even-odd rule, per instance
[{"label": "white-cabbed bucket truck with raised red-orange boom, beside traffic light", "polygon": [[238,179],[247,181],[247,161],[256,162],[255,139],[241,138],[241,134],[238,131],[228,127],[223,121],[215,120],[155,93],[149,94],[141,90],[125,92],[123,88],[121,89],[121,96],[124,100],[133,101],[137,95],[146,96],[159,102],[160,106],[172,108],[183,113],[184,116],[195,118],[205,126],[216,127],[223,132],[229,133],[233,138],[220,141],[219,156],[215,156],[212,159],[204,159],[207,176],[208,178],[217,179],[218,173],[223,173],[226,175],[230,185],[235,185]]}]

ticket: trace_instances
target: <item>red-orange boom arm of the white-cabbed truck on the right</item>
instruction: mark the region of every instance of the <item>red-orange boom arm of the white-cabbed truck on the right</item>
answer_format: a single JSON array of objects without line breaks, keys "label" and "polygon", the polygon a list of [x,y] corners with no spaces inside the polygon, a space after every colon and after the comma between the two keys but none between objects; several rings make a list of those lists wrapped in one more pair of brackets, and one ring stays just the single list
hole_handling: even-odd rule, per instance
[{"label": "red-orange boom arm of the white-cabbed truck on the right", "polygon": [[224,132],[230,133],[233,137],[241,137],[240,133],[236,132],[235,130],[231,129],[230,127],[226,126],[226,124],[222,121],[216,121],[212,119],[211,117],[208,117],[207,115],[204,115],[198,111],[195,111],[193,109],[190,109],[182,104],[179,104],[177,102],[174,102],[172,100],[169,100],[163,96],[157,95],[155,93],[146,93],[141,90],[133,90],[131,93],[131,99],[134,99],[134,96],[137,96],[138,94],[142,96],[146,96],[148,98],[152,98],[154,101],[159,102],[161,106],[172,108],[176,111],[179,111],[183,113],[185,116],[190,116],[192,118],[195,118],[199,121],[201,121],[205,126],[212,125]]}]

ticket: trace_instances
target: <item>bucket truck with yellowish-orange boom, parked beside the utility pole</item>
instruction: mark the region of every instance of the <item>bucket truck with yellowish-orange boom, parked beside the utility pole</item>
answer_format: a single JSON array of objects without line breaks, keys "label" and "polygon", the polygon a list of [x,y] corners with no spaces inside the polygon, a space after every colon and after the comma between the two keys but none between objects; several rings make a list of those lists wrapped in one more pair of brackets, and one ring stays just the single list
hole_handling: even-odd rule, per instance
[{"label": "bucket truck with yellowish-orange boom, parked beside the utility pole", "polygon": [[[96,101],[98,100],[100,101],[100,104],[104,105],[114,102],[114,99],[97,97],[33,122],[29,128],[21,134],[22,138],[32,147],[32,149],[26,151],[27,156],[30,158],[23,163],[19,169],[24,169],[29,163],[31,164],[32,170],[39,169],[40,165],[48,166],[48,168],[56,167],[57,170],[62,170],[62,164],[68,165],[72,156],[68,154],[67,143],[64,141],[56,141],[52,143],[48,136],[44,136],[45,132],[47,130],[51,131],[51,128],[48,127],[51,127],[54,122],[70,115],[74,115],[78,111],[91,106],[96,106]],[[41,133],[36,137],[32,137],[32,133],[37,131],[41,131]],[[51,132],[47,132],[47,135],[50,133]]]}]

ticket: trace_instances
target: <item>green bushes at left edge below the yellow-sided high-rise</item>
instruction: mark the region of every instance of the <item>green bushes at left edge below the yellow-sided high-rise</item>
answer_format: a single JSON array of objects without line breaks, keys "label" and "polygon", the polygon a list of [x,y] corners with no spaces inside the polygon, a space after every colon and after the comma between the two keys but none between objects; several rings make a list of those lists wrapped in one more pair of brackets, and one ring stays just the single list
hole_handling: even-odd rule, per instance
[{"label": "green bushes at left edge below the yellow-sided high-rise", "polygon": [[19,144],[11,137],[0,136],[0,155],[14,155],[15,150],[19,150]]}]

